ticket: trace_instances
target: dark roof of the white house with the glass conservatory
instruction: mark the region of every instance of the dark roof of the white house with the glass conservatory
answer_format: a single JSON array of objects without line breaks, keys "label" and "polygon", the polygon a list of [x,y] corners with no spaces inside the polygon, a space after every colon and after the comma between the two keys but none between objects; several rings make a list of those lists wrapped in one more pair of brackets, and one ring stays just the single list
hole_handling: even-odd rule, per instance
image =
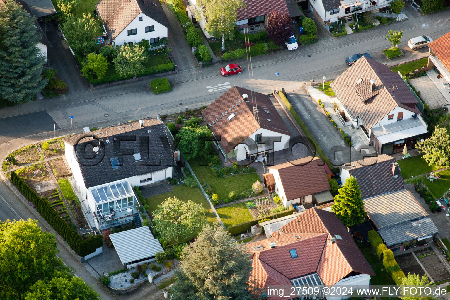
[{"label": "dark roof of the white house with the glass conservatory", "polygon": [[[96,155],[93,148],[99,145],[99,139],[102,139],[102,147]],[[72,135],[63,141],[75,144],[76,159],[86,188],[175,166],[164,124],[152,118],[144,119],[143,127],[139,121],[129,122]],[[133,154],[136,153],[140,153],[141,161],[135,161]],[[121,166],[113,170],[110,159],[115,157]]]}]

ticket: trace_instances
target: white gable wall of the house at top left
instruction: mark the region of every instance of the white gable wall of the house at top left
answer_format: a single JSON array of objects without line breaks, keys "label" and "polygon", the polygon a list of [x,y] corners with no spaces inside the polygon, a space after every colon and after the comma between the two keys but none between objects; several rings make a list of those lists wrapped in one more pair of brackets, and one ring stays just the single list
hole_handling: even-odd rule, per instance
[{"label": "white gable wall of the house at top left", "polygon": [[[142,21],[139,21],[139,17],[142,17]],[[155,31],[145,32],[146,26],[154,26]],[[135,28],[136,34],[128,36],[128,30]],[[121,33],[119,33],[119,35],[113,40],[113,42],[114,47],[116,47],[121,46],[124,43],[139,42],[142,39],[150,40],[155,37],[162,38],[166,36],[167,27],[146,16],[144,13],[139,13],[139,15],[133,21],[131,21],[131,23],[128,24],[128,26],[124,30],[122,30]]]}]

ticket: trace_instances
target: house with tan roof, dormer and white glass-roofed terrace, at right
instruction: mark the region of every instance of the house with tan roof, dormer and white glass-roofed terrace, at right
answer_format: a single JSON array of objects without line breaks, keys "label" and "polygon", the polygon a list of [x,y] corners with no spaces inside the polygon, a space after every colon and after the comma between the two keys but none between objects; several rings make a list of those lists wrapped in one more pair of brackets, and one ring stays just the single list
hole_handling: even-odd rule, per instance
[{"label": "house with tan roof, dormer and white glass-roofed terrace, at right", "polygon": [[330,86],[343,105],[343,121],[361,129],[378,154],[412,149],[428,136],[420,99],[386,65],[363,56]]}]

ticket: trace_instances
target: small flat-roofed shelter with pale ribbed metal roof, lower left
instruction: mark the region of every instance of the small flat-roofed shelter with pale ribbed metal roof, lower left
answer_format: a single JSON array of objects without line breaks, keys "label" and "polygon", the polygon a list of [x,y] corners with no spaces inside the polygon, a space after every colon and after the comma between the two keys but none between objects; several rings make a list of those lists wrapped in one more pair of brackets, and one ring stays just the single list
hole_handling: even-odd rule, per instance
[{"label": "small flat-roofed shelter with pale ribbed metal roof, lower left", "polygon": [[109,237],[122,264],[127,268],[153,261],[155,253],[163,251],[161,244],[147,226],[113,233]]}]

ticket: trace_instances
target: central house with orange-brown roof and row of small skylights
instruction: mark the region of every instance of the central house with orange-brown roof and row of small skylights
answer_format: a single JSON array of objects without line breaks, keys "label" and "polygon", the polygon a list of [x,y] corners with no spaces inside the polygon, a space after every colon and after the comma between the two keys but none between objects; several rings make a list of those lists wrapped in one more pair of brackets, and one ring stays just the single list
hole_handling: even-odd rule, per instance
[{"label": "central house with orange-brown roof and row of small skylights", "polygon": [[202,110],[225,160],[268,160],[292,134],[265,94],[233,86]]}]

